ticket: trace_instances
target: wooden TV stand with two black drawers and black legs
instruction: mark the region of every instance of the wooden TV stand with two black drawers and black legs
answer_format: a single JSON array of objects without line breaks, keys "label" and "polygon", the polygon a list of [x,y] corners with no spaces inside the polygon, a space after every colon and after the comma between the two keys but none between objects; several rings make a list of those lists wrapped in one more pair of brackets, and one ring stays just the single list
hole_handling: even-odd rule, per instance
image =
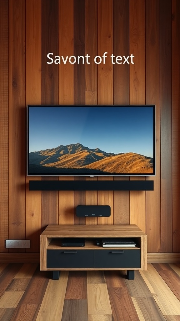
[{"label": "wooden TV stand with two black drawers and black legs", "polygon": [[[85,238],[84,247],[62,247],[62,238]],[[99,238],[127,237],[136,247],[101,247]],[[40,270],[53,271],[59,279],[62,270],[147,270],[147,235],[136,225],[48,225],[40,235]]]}]

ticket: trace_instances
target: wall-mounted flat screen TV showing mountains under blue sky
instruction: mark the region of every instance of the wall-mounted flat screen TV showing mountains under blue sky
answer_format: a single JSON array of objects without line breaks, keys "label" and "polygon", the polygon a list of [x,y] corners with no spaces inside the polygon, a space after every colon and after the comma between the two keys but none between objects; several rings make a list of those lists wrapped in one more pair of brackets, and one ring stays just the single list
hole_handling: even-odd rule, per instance
[{"label": "wall-mounted flat screen TV showing mountains under blue sky", "polygon": [[155,175],[155,105],[27,109],[28,175]]}]

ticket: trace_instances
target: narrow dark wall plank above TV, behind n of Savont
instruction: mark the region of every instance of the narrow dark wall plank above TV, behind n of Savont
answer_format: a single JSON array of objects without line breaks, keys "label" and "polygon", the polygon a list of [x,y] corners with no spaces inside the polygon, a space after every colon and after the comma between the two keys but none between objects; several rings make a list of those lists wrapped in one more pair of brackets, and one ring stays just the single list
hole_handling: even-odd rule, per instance
[{"label": "narrow dark wall plank above TV, behind n of Savont", "polygon": [[[85,0],[74,0],[74,56],[85,56]],[[74,104],[85,104],[85,64],[74,64]]]}]

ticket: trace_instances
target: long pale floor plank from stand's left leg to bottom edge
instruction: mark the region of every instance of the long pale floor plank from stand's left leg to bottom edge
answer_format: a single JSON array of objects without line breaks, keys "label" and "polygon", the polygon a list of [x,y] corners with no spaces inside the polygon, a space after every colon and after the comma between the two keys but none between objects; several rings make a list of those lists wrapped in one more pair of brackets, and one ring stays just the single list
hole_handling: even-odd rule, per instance
[{"label": "long pale floor plank from stand's left leg to bottom edge", "polygon": [[49,280],[36,321],[61,320],[68,274],[61,271],[59,280]]}]

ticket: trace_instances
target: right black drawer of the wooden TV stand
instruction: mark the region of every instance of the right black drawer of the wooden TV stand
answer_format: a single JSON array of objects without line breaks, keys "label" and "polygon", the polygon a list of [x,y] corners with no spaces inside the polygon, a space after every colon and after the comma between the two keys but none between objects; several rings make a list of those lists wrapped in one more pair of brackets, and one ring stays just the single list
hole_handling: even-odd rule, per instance
[{"label": "right black drawer of the wooden TV stand", "polygon": [[94,250],[94,268],[140,268],[141,250]]}]

